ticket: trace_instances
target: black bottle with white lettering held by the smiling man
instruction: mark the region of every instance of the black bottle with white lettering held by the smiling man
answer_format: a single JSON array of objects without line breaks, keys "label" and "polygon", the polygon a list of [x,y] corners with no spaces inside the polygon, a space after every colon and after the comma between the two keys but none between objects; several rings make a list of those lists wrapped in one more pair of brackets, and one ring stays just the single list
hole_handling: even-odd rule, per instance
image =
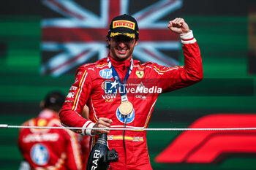
[{"label": "black bottle with white lettering held by the smiling man", "polygon": [[99,134],[89,154],[86,170],[107,170],[110,161],[118,161],[118,153],[115,149],[109,150],[107,134]]}]

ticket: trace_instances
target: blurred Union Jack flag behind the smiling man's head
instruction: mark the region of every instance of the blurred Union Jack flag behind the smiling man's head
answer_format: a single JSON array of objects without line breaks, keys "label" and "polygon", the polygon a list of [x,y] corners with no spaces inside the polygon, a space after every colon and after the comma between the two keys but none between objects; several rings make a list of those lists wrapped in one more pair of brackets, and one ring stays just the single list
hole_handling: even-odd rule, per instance
[{"label": "blurred Union Jack flag behind the smiling man's head", "polygon": [[[181,8],[182,0],[154,1],[137,11],[129,9],[135,7],[131,7],[132,3],[135,2],[42,0],[45,14],[41,23],[41,73],[59,76],[75,71],[83,63],[105,58],[108,55],[105,36],[110,20],[124,13],[132,15],[140,29],[140,39],[133,57],[141,62],[177,66],[181,46],[178,35],[171,33],[167,28],[169,20],[162,18]],[[94,11],[90,9],[93,5],[91,9]]]}]

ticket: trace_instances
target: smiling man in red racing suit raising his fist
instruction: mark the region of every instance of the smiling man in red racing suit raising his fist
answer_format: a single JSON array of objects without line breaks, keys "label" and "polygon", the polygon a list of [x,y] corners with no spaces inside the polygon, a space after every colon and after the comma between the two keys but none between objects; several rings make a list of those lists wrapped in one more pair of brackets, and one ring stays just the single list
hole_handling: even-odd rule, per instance
[{"label": "smiling man in red racing suit raising his fist", "polygon": [[[121,15],[121,18],[114,18],[111,24],[114,20],[121,20],[121,22],[128,20],[137,24],[134,20],[125,18],[124,15]],[[148,158],[146,131],[135,131],[132,128],[148,127],[151,113],[160,93],[184,88],[202,80],[200,50],[187,23],[182,18],[176,18],[169,22],[168,28],[181,37],[185,58],[184,66],[169,68],[159,66],[157,63],[142,64],[137,60],[132,61],[130,52],[133,50],[132,47],[138,43],[137,36],[135,39],[131,38],[132,40],[126,39],[127,34],[124,34],[123,30],[118,30],[120,33],[111,34],[114,31],[114,24],[113,27],[110,26],[108,39],[109,59],[103,58],[78,68],[75,82],[69,89],[69,94],[60,112],[61,123],[69,127],[81,128],[123,128],[124,117],[118,109],[121,104],[119,94],[121,90],[116,88],[116,80],[111,74],[109,63],[116,69],[122,82],[133,63],[126,83],[127,98],[132,103],[133,109],[127,117],[127,131],[124,135],[123,131],[117,130],[86,129],[77,132],[91,136],[99,133],[108,134],[110,150],[114,148],[119,157],[118,162],[110,163],[110,169],[152,169]],[[133,37],[131,34],[132,31],[129,31],[128,36]],[[89,106],[89,120],[80,117],[85,104]],[[91,144],[94,144],[95,140],[96,136],[93,137]]]}]

